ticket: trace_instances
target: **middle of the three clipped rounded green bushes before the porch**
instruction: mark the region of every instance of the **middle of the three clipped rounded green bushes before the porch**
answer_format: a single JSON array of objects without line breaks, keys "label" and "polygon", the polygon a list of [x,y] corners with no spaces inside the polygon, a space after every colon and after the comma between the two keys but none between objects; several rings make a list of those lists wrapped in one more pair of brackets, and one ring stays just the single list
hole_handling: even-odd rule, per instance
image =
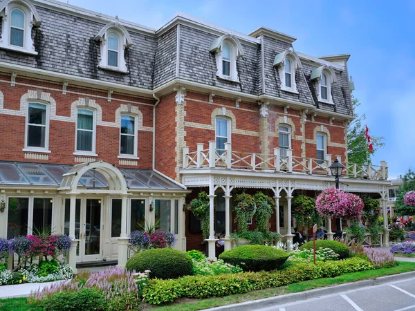
[{"label": "middle of the three clipped rounded green bushes before the porch", "polygon": [[243,271],[275,270],[290,255],[281,249],[266,245],[242,245],[223,252],[219,259],[231,265],[239,265]]}]

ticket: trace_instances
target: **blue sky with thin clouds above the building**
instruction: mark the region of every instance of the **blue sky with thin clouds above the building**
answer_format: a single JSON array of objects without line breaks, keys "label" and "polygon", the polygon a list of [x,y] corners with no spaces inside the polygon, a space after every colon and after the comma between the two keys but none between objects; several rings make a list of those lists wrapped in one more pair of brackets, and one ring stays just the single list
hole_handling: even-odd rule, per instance
[{"label": "blue sky with thin clouds above the building", "polygon": [[261,26],[297,37],[312,56],[351,54],[349,75],[372,136],[385,137],[373,164],[389,177],[415,168],[415,1],[68,0],[95,12],[158,28],[176,12],[248,34]]}]

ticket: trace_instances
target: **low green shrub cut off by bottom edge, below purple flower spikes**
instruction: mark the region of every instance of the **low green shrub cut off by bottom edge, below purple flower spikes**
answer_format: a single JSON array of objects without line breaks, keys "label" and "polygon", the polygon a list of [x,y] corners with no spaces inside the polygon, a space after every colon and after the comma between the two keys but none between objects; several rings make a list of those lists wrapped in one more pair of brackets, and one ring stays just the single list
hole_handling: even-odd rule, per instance
[{"label": "low green shrub cut off by bottom edge, below purple flower spikes", "polygon": [[46,311],[73,311],[73,310],[108,310],[104,294],[97,289],[81,288],[80,290],[57,292],[42,301]]}]

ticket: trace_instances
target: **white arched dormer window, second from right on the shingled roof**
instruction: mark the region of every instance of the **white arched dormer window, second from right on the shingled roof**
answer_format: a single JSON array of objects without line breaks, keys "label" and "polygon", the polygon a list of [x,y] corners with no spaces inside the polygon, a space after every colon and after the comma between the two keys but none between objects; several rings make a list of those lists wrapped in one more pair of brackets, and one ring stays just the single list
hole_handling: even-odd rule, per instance
[{"label": "white arched dormer window, second from right on the shingled roof", "polygon": [[274,66],[277,67],[280,79],[280,87],[283,91],[298,94],[295,73],[302,64],[293,48],[275,55]]}]

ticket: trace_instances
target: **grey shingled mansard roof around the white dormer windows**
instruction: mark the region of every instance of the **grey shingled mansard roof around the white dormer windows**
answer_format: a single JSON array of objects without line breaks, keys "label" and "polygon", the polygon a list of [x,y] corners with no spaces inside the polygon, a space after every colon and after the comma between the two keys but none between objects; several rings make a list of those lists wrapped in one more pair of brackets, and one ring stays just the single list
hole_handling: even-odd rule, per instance
[{"label": "grey shingled mansard roof around the white dormer windows", "polygon": [[[10,0],[0,0],[0,8]],[[275,61],[287,51],[293,51],[294,37],[261,27],[250,35],[214,25],[183,13],[175,15],[157,30],[129,21],[100,15],[55,0],[17,0],[32,3],[42,19],[39,28],[32,29],[38,55],[24,55],[0,49],[2,64],[42,71],[45,75],[59,73],[104,84],[116,84],[151,95],[154,90],[180,79],[201,88],[220,88],[223,93],[248,98],[266,95],[276,101],[314,106],[316,109],[351,115],[350,87],[347,74],[349,55],[310,57],[296,53],[300,66],[295,74],[298,92],[281,88]],[[1,26],[0,26],[1,27]],[[110,29],[118,28],[131,46],[124,50],[128,73],[98,68],[100,43],[97,40]],[[223,40],[237,46],[239,82],[216,76],[217,50]],[[326,66],[335,73],[334,105],[317,102],[311,74]],[[26,70],[26,69],[25,69]],[[27,71],[26,70],[26,71]],[[66,78],[68,79],[68,78]],[[70,79],[70,78],[69,78]],[[196,87],[196,86],[195,86]]]}]

